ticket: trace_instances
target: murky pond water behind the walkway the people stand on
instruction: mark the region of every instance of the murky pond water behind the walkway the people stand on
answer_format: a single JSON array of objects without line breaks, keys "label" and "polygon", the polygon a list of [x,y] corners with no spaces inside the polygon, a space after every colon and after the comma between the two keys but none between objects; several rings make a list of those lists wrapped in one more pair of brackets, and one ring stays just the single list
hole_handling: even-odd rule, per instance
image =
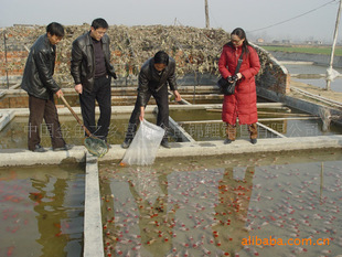
[{"label": "murky pond water behind the walkway the people stand on", "polygon": [[[314,136],[329,136],[342,133],[341,126],[335,124],[330,125],[328,131],[322,131],[321,119],[313,120],[271,120],[263,121],[263,118],[293,118],[301,117],[302,111],[291,109],[258,109],[260,122],[269,128],[285,135],[286,137],[314,137]],[[128,120],[130,115],[113,115],[108,133],[108,142],[111,144],[120,144],[124,141],[125,133],[128,127]],[[225,124],[220,122],[202,122],[195,124],[191,121],[196,120],[221,120],[221,109],[207,109],[207,110],[170,110],[170,117],[172,117],[180,126],[196,141],[207,140],[224,140],[225,138]],[[156,124],[156,116],[153,114],[147,114],[146,119]],[[29,118],[15,117],[9,125],[7,125],[0,131],[0,149],[26,149],[28,147],[28,120]],[[182,124],[182,121],[185,121]],[[84,131],[83,128],[76,122],[74,117],[60,116],[61,129],[63,137],[67,143],[75,146],[83,146]],[[171,141],[180,141],[180,135],[177,131],[169,131],[169,139]],[[277,137],[275,133],[258,127],[258,138],[272,138]],[[248,139],[249,132],[247,126],[237,127],[237,139]],[[45,148],[51,147],[51,139],[45,124],[41,127],[41,144]]]}]

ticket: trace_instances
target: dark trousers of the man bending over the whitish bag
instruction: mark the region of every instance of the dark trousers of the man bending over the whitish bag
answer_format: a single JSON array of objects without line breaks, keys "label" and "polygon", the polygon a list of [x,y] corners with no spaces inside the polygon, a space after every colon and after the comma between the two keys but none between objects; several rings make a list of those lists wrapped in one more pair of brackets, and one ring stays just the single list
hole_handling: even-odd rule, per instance
[{"label": "dark trousers of the man bending over the whitish bag", "polygon": [[[169,94],[168,94],[168,87],[167,87],[167,85],[164,85],[163,87],[160,88],[159,92],[154,92],[154,90],[149,89],[146,94],[147,94],[146,95],[146,103],[149,101],[151,96],[153,96],[156,101],[157,101],[157,106],[158,106],[157,126],[160,126],[165,130],[164,137],[167,137],[168,136],[167,132],[169,129],[169,98],[168,98]],[[139,105],[139,100],[137,99],[136,105],[135,105],[135,109],[131,113],[131,116],[129,119],[126,139],[133,139],[136,131],[137,131],[137,128],[140,124],[139,116],[140,116],[140,105]]]}]

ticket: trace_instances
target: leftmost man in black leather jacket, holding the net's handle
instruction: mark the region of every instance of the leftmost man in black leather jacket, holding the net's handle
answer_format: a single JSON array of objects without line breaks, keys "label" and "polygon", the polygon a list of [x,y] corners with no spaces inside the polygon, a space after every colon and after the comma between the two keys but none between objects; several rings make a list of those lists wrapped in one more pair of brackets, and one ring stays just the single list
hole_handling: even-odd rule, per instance
[{"label": "leftmost man in black leather jacket, holding the net's handle", "polygon": [[41,144],[40,128],[45,120],[53,150],[70,150],[61,131],[57,110],[53,94],[63,96],[62,89],[53,79],[56,44],[64,36],[64,28],[56,22],[46,26],[46,34],[41,35],[32,45],[21,87],[29,94],[29,150],[34,152],[46,151]]}]

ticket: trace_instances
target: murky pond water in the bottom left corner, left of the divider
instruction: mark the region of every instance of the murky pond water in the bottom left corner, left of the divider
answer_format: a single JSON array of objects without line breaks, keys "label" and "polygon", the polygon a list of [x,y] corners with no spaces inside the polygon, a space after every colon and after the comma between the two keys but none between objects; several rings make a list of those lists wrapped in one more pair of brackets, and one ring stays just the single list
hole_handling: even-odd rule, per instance
[{"label": "murky pond water in the bottom left corner, left of the divider", "polygon": [[83,255],[81,164],[0,169],[0,256]]}]

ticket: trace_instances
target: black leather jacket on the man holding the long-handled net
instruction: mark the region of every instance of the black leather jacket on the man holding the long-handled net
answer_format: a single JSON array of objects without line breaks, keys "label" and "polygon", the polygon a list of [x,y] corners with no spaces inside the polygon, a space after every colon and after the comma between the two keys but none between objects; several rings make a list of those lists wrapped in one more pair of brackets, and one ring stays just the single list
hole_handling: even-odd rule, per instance
[{"label": "black leather jacket on the man holding the long-handled net", "polygon": [[32,45],[22,76],[21,87],[29,95],[51,99],[61,88],[53,79],[56,47],[50,44],[47,34],[41,35]]}]

